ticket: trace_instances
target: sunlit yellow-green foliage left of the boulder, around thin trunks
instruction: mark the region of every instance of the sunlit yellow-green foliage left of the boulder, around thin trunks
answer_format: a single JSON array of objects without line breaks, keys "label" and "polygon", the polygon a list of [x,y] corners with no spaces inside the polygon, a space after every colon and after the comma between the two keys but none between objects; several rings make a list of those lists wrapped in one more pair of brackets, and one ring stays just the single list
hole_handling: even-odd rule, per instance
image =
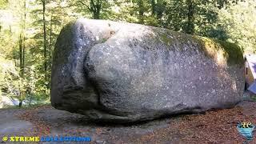
[{"label": "sunlit yellow-green foliage left of the boulder, around thin trunks", "polygon": [[[0,14],[0,61],[2,64],[0,90],[2,95],[29,103],[44,99],[49,101],[54,43],[62,26],[70,20],[65,8],[65,3],[46,1],[47,55],[44,58],[42,2],[10,0],[6,3],[6,10],[2,10],[3,13]],[[11,18],[10,21],[9,18]],[[43,70],[45,59],[47,71]]]}]

